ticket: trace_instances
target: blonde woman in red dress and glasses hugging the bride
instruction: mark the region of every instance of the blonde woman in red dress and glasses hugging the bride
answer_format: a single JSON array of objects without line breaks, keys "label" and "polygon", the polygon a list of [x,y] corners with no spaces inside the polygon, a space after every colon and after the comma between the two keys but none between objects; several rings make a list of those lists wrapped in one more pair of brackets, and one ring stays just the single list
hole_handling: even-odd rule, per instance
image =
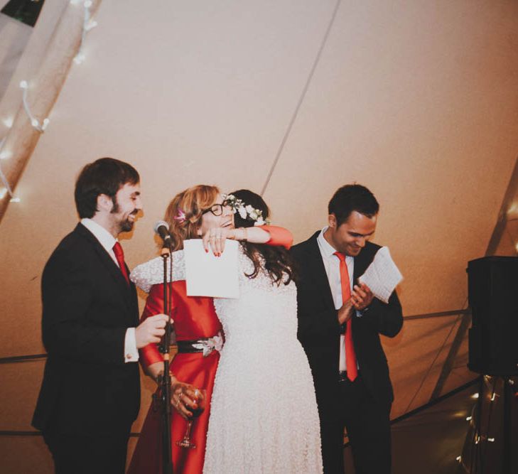
[{"label": "blonde woman in red dress and glasses hugging the bride", "polygon": [[[218,254],[223,251],[225,239],[291,246],[291,232],[282,227],[249,227],[234,229],[233,210],[225,205],[224,197],[215,186],[198,185],[176,195],[168,205],[165,216],[173,239],[173,275],[171,318],[174,321],[178,354],[171,362],[171,451],[175,474],[202,473],[205,442],[210,416],[210,397],[220,359],[222,327],[212,298],[187,296],[185,266],[183,264],[183,240],[203,237],[205,249]],[[131,279],[148,294],[141,321],[148,316],[163,313],[163,263],[161,257],[141,264],[131,272]],[[202,348],[203,347],[203,348]],[[157,379],[163,371],[163,356],[156,344],[140,350],[144,371]],[[195,406],[197,389],[205,389],[205,411],[193,424],[191,440],[196,448],[180,448],[176,445],[185,433],[189,408]],[[151,404],[136,445],[128,474],[160,474],[161,413]]]}]

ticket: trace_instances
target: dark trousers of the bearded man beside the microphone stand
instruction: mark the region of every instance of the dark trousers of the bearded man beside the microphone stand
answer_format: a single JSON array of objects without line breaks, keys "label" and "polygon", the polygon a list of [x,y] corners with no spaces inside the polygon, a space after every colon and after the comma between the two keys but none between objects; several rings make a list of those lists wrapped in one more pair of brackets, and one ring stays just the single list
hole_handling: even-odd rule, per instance
[{"label": "dark trousers of the bearded man beside the microphone stand", "polygon": [[85,436],[43,432],[55,474],[124,474],[129,433]]}]

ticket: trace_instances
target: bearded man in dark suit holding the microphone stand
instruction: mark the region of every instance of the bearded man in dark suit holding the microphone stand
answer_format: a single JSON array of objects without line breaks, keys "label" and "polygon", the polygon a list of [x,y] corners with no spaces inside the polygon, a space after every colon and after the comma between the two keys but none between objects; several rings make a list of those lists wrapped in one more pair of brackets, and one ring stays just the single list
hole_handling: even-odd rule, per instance
[{"label": "bearded man in dark suit holding the microphone stand", "polygon": [[43,270],[48,358],[33,426],[43,431],[56,473],[122,474],[140,404],[138,349],[159,342],[167,318],[138,325],[136,289],[117,241],[141,210],[139,173],[100,158],[77,178],[75,203],[81,222]]}]

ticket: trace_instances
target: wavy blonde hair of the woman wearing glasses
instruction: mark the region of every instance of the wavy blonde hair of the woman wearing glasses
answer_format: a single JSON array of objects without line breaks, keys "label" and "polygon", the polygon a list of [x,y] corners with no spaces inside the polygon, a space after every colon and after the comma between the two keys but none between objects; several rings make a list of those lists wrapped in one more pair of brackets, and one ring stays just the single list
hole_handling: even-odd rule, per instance
[{"label": "wavy blonde hair of the woman wearing glasses", "polygon": [[183,249],[185,239],[200,237],[198,230],[201,227],[202,211],[210,208],[219,194],[220,190],[216,186],[199,184],[183,190],[171,200],[163,219],[169,225],[173,250]]}]

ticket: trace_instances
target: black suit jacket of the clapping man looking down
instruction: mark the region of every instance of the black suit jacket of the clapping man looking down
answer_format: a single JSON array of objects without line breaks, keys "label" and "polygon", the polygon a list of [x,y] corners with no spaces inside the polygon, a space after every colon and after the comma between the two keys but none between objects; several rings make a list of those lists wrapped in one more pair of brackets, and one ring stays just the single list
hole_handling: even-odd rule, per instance
[{"label": "black suit jacket of the clapping man looking down", "polygon": [[[298,339],[308,355],[319,408],[323,409],[321,405],[325,404],[334,410],[333,404],[340,402],[340,325],[318,247],[319,233],[315,232],[310,239],[291,249],[300,272],[297,285]],[[379,245],[367,242],[355,257],[355,284],[379,248]],[[402,324],[401,304],[395,291],[388,304],[374,298],[363,316],[352,317],[352,338],[362,379],[374,399],[382,404],[392,403],[394,394],[379,334],[394,337],[401,330]]]}]

